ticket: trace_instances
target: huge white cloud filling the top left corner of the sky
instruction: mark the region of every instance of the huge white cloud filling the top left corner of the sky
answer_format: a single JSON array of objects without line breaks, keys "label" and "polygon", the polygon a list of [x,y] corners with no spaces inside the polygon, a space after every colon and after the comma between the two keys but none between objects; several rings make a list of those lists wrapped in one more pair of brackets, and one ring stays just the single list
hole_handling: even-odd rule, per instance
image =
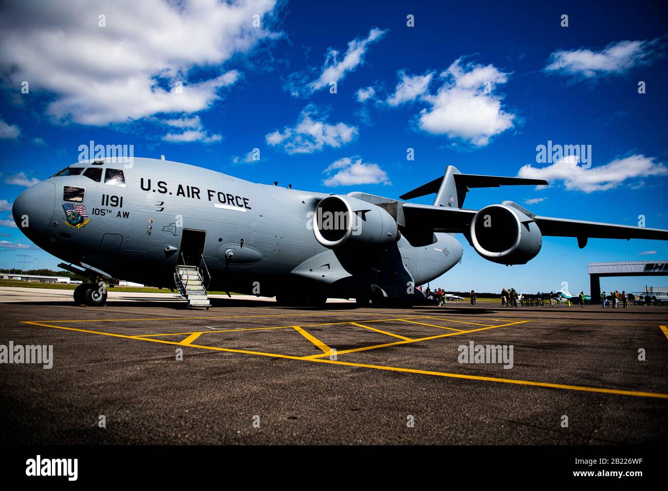
[{"label": "huge white cloud filling the top left corner of the sky", "polygon": [[[59,122],[105,125],[205,110],[238,79],[222,65],[276,37],[253,27],[253,15],[273,13],[275,0],[2,5],[0,70],[12,86],[27,80],[31,91],[53,94],[46,112]],[[101,13],[106,27],[98,25]],[[217,76],[189,80],[194,67],[213,67]]]}]

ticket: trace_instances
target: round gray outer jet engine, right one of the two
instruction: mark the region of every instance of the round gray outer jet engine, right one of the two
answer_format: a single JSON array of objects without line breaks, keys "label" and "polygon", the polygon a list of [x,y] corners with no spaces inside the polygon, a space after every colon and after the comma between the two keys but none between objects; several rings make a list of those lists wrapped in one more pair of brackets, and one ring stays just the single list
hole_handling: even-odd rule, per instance
[{"label": "round gray outer jet engine, right one of the two", "polygon": [[502,265],[524,265],[542,247],[536,222],[506,204],[491,204],[476,213],[470,236],[476,253]]}]

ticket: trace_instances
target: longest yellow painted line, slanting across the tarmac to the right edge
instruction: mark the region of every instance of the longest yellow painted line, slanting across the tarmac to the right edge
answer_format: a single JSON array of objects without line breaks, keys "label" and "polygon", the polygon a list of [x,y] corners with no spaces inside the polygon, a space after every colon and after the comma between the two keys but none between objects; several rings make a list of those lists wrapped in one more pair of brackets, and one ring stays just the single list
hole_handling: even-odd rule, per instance
[{"label": "longest yellow painted line, slanting across the tarmac to the right edge", "polygon": [[[526,321],[521,321],[521,322],[526,322]],[[43,327],[53,327],[55,329],[65,329],[67,331],[78,331],[78,332],[83,332],[83,333],[93,333],[93,334],[100,334],[103,336],[112,336],[112,337],[122,337],[126,339],[138,339],[140,341],[150,341],[152,343],[164,343],[164,344],[170,344],[170,345],[180,345],[180,343],[176,343],[175,341],[165,341],[164,339],[151,339],[151,338],[142,338],[142,337],[136,337],[136,336],[126,336],[122,334],[113,334],[113,333],[105,333],[105,332],[98,332],[98,331],[88,331],[86,329],[75,329],[74,327],[64,327],[64,326],[59,326],[59,325],[49,325],[45,323],[37,323],[37,322],[31,322],[31,321],[23,321],[24,324],[31,324],[31,325],[39,325]],[[500,327],[500,326],[496,326]],[[486,329],[493,329],[492,327],[484,327],[482,329],[475,329],[476,331],[484,331]],[[468,332],[473,332],[473,331],[468,331]],[[431,339],[436,339],[438,337],[446,337],[446,336],[452,336],[452,335],[458,335],[458,333],[448,333],[440,336],[433,336]],[[428,339],[428,338],[425,338]],[[420,339],[416,339],[415,341],[420,341]],[[399,341],[398,343],[395,344],[402,344],[405,341]],[[274,357],[274,358],[284,358],[284,359],[293,359],[293,360],[301,360],[301,361],[315,361],[316,363],[329,363],[331,365],[345,365],[345,366],[351,366],[351,367],[361,367],[361,368],[371,368],[371,369],[378,369],[378,370],[389,370],[389,371],[400,371],[400,372],[405,372],[405,373],[418,373],[421,375],[437,375],[440,377],[452,377],[452,378],[458,378],[458,379],[469,379],[469,380],[479,380],[479,381],[489,381],[489,382],[497,382],[497,383],[510,383],[510,384],[516,384],[516,385],[533,385],[536,387],[547,387],[547,388],[553,388],[553,389],[566,389],[566,390],[576,390],[576,391],[587,391],[587,392],[598,392],[598,393],[611,393],[611,394],[618,394],[618,395],[633,395],[637,397],[654,397],[657,399],[668,399],[668,393],[659,393],[659,392],[645,392],[645,391],[633,391],[633,390],[621,390],[621,389],[605,389],[603,387],[586,387],[583,385],[567,385],[563,383],[550,383],[550,382],[538,382],[538,381],[531,381],[531,380],[514,380],[514,379],[501,379],[497,377],[483,377],[480,375],[464,375],[462,373],[447,373],[443,371],[430,371],[430,370],[418,370],[418,369],[411,369],[411,368],[402,368],[402,367],[388,367],[388,366],[383,366],[383,365],[367,365],[365,363],[353,363],[350,361],[339,361],[339,360],[331,360],[331,359],[313,359],[313,358],[304,358],[304,357],[297,357],[297,356],[291,356],[291,355],[281,355],[279,353],[263,353],[261,351],[247,351],[243,349],[230,349],[230,348],[220,348],[220,347],[214,347],[214,346],[202,346],[202,345],[189,345],[189,347],[193,348],[200,348],[200,349],[210,349],[212,351],[227,351],[230,353],[244,353],[248,355],[262,355],[262,356],[267,356],[267,357]],[[341,354],[342,352],[339,352],[337,354]]]}]

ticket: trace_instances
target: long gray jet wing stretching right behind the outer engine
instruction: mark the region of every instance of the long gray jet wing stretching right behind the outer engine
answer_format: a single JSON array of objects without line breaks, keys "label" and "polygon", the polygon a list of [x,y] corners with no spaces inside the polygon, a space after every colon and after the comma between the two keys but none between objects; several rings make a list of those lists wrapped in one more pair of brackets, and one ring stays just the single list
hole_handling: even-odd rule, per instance
[{"label": "long gray jet wing stretching right behind the outer engine", "polygon": [[[477,210],[415,203],[403,203],[402,208],[406,227],[430,229],[434,232],[464,232],[465,234],[468,233],[471,220],[477,212]],[[668,240],[668,230],[660,228],[568,220],[567,218],[551,218],[533,214],[530,218],[536,222],[540,233],[544,236]]]}]

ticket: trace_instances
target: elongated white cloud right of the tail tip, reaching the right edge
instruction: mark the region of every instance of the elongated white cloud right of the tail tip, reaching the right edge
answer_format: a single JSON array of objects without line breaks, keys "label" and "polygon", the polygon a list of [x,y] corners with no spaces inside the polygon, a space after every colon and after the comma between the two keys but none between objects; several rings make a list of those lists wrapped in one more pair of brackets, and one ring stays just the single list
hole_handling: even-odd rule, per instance
[{"label": "elongated white cloud right of the tail tip, reaching the right edge", "polygon": [[642,154],[632,155],[609,162],[603,166],[582,168],[578,157],[569,155],[543,168],[526,165],[517,176],[548,181],[563,181],[566,190],[580,190],[587,193],[616,188],[627,179],[665,176],[668,168],[654,158]]}]

